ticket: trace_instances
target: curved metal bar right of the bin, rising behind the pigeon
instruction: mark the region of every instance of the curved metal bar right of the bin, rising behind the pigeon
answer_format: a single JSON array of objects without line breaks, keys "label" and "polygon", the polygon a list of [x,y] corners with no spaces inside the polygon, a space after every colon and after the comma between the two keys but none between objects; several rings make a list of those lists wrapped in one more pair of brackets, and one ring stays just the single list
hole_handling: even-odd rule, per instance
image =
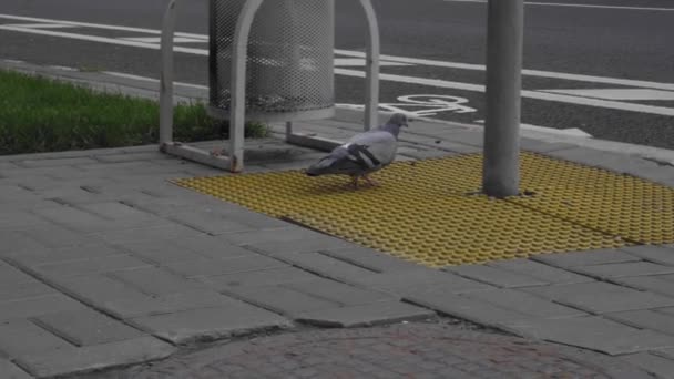
[{"label": "curved metal bar right of the bin, rising behind the pigeon", "polygon": [[360,0],[368,23],[365,89],[365,130],[379,124],[379,53],[380,38],[377,14],[370,0]]}]

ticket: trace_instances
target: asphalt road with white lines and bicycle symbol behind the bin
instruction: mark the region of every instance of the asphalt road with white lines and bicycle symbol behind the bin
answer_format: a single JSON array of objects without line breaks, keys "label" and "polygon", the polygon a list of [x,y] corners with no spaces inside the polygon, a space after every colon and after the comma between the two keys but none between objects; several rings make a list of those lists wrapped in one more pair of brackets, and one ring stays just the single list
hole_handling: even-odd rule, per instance
[{"label": "asphalt road with white lines and bicycle symbol behind the bin", "polygon": [[[207,1],[183,2],[177,30],[200,35],[197,41],[177,45],[204,50]],[[483,120],[487,4],[457,0],[372,2],[386,55],[381,102],[389,109],[445,120]],[[157,78],[156,50],[119,41],[157,37],[165,3],[2,0],[0,59]],[[364,35],[365,19],[358,3],[337,0],[336,57],[341,59],[337,62],[338,103],[364,102],[364,83],[356,78],[364,68],[347,60],[364,51]],[[674,148],[672,1],[528,1],[524,35],[523,123]],[[176,70],[181,82],[207,84],[204,54],[177,53]]]}]

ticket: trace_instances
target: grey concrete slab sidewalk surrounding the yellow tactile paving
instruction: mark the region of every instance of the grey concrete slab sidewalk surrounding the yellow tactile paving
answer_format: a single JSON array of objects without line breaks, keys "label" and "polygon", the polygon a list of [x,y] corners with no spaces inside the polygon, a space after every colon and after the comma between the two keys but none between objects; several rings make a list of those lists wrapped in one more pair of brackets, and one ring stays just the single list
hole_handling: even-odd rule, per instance
[{"label": "grey concrete slab sidewalk surrounding the yellow tactile paving", "polygon": [[[7,62],[0,68],[9,65],[126,93],[152,96],[156,88],[152,82],[103,73]],[[196,89],[183,90],[178,94],[184,99],[205,96]],[[340,111],[334,120],[298,127],[345,139],[359,129],[360,117],[358,112]],[[278,139],[280,132],[277,125],[275,137],[247,142],[248,172],[306,167],[321,155],[286,145]],[[476,153],[481,141],[479,127],[418,121],[402,136],[399,153],[402,160]],[[525,134],[522,146],[674,186],[674,152],[538,133]],[[555,365],[560,375],[581,377],[639,378],[647,377],[645,371],[674,377],[674,246],[538,255],[437,270],[167,182],[221,174],[163,155],[156,146],[1,156],[0,378],[71,375],[161,358],[168,360],[160,367],[170,369],[176,357],[182,360],[175,372],[187,372],[182,377],[227,377],[223,372],[233,361],[227,359],[259,345],[258,339],[246,341],[245,336],[265,332],[270,334],[263,338],[270,344],[265,346],[290,346],[294,339],[315,346],[329,338],[378,336],[391,342],[359,350],[388,357],[376,368],[392,365],[400,355],[390,348],[395,344],[404,347],[405,356],[412,346],[438,344],[433,346],[442,357],[453,351],[456,365],[443,369],[455,371],[433,371],[433,360],[446,360],[430,351],[416,355],[430,365],[423,375],[436,377],[451,377],[447,372],[456,377],[552,376],[544,367]],[[439,327],[445,316],[524,339]],[[402,320],[412,324],[411,329],[375,327],[326,335],[305,330]],[[407,342],[395,342],[391,330],[397,330],[394,337],[406,334]],[[329,332],[344,335],[330,337]],[[448,334],[446,341],[452,342],[438,342],[432,337],[439,334]],[[231,338],[243,340],[217,347],[226,354],[213,350],[184,358],[181,352]],[[484,342],[490,338],[501,345]],[[493,345],[493,351],[486,347],[466,356],[459,350],[467,347],[459,340]],[[572,354],[571,348],[540,340],[595,352],[573,349]],[[518,360],[522,352],[511,344],[547,352],[527,356],[532,362],[527,368]],[[268,351],[275,349],[256,354],[272,359]],[[335,354],[349,356],[344,350]],[[493,356],[503,355],[506,361],[518,360],[513,367],[520,371],[499,371]],[[312,366],[305,362],[309,356],[297,352],[297,360],[304,358],[303,368]],[[314,357],[314,366],[324,367],[327,356]],[[261,377],[255,368],[264,366],[263,358],[236,375]],[[481,362],[481,372],[462,365],[471,359],[478,366]],[[578,367],[564,371],[565,362]],[[409,360],[410,367],[418,363]],[[365,367],[362,361],[354,365]],[[206,366],[216,371],[207,371]],[[582,371],[588,367],[594,371]],[[295,369],[267,375],[299,376]],[[144,377],[142,369],[127,372]],[[323,372],[338,377],[341,371]],[[96,376],[104,375],[91,377]]]}]

